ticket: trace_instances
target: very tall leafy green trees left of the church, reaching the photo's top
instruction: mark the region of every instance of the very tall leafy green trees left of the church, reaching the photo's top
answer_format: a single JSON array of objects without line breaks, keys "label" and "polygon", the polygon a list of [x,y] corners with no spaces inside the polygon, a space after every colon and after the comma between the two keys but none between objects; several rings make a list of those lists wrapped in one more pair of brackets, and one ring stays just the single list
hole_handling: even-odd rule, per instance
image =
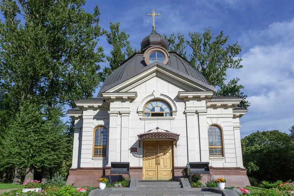
[{"label": "very tall leafy green trees left of the church, reaching the photo's top", "polygon": [[[0,1],[4,18],[0,21],[0,92],[5,100],[10,98],[7,105],[15,108],[12,114],[7,113],[7,107],[0,108],[12,119],[5,124],[10,134],[5,133],[4,143],[8,146],[4,150],[28,148],[23,157],[12,154],[11,164],[15,167],[31,167],[32,163],[37,169],[57,167],[59,164],[52,161],[57,157],[51,156],[61,153],[56,146],[65,149],[71,145],[71,138],[58,139],[66,131],[60,122],[64,105],[74,107],[74,100],[91,98],[100,82],[99,62],[104,58],[102,47],[97,46],[102,35],[100,13],[98,6],[93,14],[87,13],[83,5],[85,0]],[[29,121],[29,117],[35,121]],[[22,121],[28,123],[21,125]],[[48,139],[35,135],[37,129]],[[25,140],[28,133],[38,140]],[[10,148],[13,143],[7,140],[18,142],[19,138],[24,139],[23,146]],[[50,150],[38,148],[41,145]],[[36,155],[42,150],[44,159],[32,156],[32,150]],[[67,152],[58,159],[69,159],[72,151]]]}]

